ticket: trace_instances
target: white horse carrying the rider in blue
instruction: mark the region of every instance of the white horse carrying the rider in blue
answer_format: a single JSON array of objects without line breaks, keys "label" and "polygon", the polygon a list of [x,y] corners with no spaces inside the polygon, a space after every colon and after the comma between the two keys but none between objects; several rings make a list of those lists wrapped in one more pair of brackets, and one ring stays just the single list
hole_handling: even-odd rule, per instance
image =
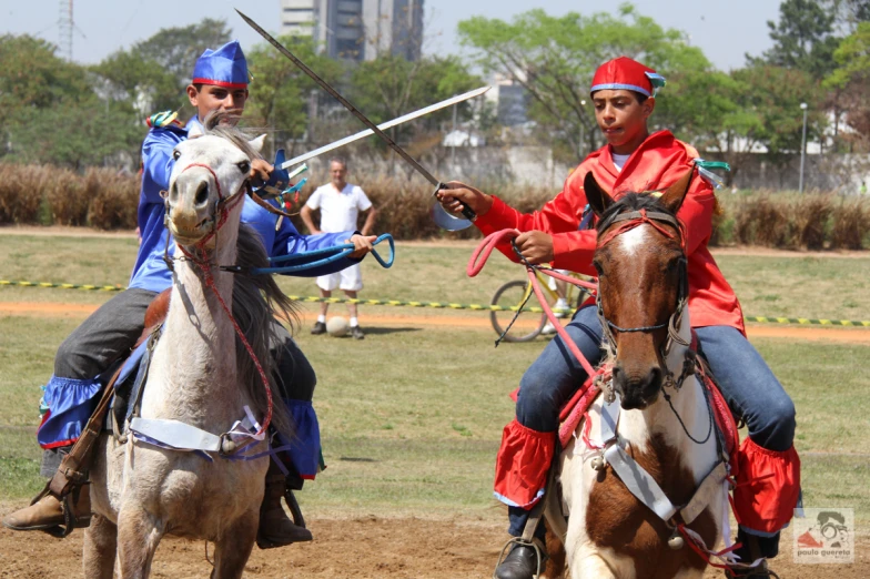
[{"label": "white horse carrying the rider in blue", "polygon": [[[220,436],[244,418],[245,406],[263,421],[271,404],[221,299],[232,304],[265,376],[271,376],[272,302],[284,313],[290,302],[270,276],[234,276],[215,266],[267,263],[253,230],[240,228],[251,160],[261,145],[219,124],[174,150],[166,223],[176,255],[192,257],[174,261],[169,313],[141,399],[142,419],[174,420]],[[286,431],[289,418],[280,397],[274,398],[272,424]],[[247,451],[265,447],[257,441]],[[213,578],[241,577],[256,537],[269,457],[234,461],[220,453],[210,456],[212,460],[153,446],[135,436],[121,444],[103,436],[91,470],[94,516],[84,535],[84,576],[109,579],[114,568],[124,579],[148,577],[161,538],[171,534],[214,542]]]}]

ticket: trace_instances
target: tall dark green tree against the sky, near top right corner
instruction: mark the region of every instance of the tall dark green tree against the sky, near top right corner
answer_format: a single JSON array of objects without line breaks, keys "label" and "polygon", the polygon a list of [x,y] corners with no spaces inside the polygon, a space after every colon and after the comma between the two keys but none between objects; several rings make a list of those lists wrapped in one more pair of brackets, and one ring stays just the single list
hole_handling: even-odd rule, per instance
[{"label": "tall dark green tree against the sky, near top right corner", "polygon": [[768,21],[773,47],[760,59],[747,57],[750,64],[761,62],[798,69],[816,80],[833,68],[833,51],[839,39],[833,35],[834,13],[817,0],[785,0],[779,6],[779,22]]}]

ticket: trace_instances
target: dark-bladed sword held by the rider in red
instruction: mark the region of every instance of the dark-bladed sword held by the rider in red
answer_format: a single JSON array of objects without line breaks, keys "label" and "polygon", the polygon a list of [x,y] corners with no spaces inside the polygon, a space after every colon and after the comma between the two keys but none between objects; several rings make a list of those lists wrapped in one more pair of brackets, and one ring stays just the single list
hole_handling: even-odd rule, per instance
[{"label": "dark-bladed sword held by the rider in red", "polygon": [[[304,72],[305,74],[307,74],[307,75],[308,75],[308,77],[310,77],[310,78],[311,78],[311,79],[312,79],[314,82],[316,82],[316,83],[317,83],[317,84],[318,84],[318,85],[320,85],[320,87],[321,87],[323,90],[325,90],[327,93],[330,93],[330,95],[332,95],[332,96],[333,96],[333,98],[334,98],[336,101],[338,101],[340,103],[342,103],[342,105],[343,105],[345,109],[347,109],[348,111],[351,111],[351,113],[352,113],[354,116],[356,116],[357,119],[360,119],[360,121],[362,121],[362,123],[363,123],[363,124],[365,124],[365,125],[366,125],[366,126],[367,126],[367,128],[368,128],[368,129],[370,129],[370,130],[371,130],[371,131],[372,131],[374,134],[376,134],[378,138],[381,138],[381,140],[382,140],[382,141],[384,141],[384,142],[387,144],[387,146],[390,146],[390,149],[392,149],[393,151],[395,151],[395,152],[398,154],[398,156],[401,156],[402,159],[404,159],[404,160],[405,160],[405,162],[407,162],[407,163],[408,163],[408,164],[409,164],[412,167],[414,167],[414,169],[417,171],[417,173],[419,173],[421,175],[423,175],[423,176],[426,179],[426,181],[428,181],[429,183],[432,183],[433,185],[435,185],[435,192],[433,193],[433,196],[434,196],[435,194],[437,194],[437,193],[438,193],[438,191],[441,191],[442,189],[445,189],[445,185],[444,185],[444,183],[442,183],[439,180],[435,179],[435,177],[433,176],[433,174],[432,174],[432,173],[429,173],[429,172],[428,172],[428,171],[427,171],[427,170],[426,170],[426,169],[425,169],[423,165],[421,165],[421,164],[419,164],[419,163],[418,163],[418,162],[417,162],[417,161],[416,161],[416,160],[415,160],[413,156],[411,156],[411,155],[409,155],[409,154],[408,154],[408,153],[407,153],[407,152],[406,152],[404,149],[402,149],[401,146],[398,146],[398,145],[395,143],[395,141],[393,141],[393,139],[391,139],[391,138],[390,138],[390,135],[388,135],[388,134],[386,134],[386,133],[385,133],[384,131],[382,131],[382,130],[381,130],[381,129],[380,129],[380,128],[378,128],[378,126],[377,126],[375,123],[373,123],[371,120],[368,120],[368,118],[367,118],[367,116],[365,116],[365,115],[364,115],[362,112],[360,112],[360,111],[356,109],[356,106],[354,106],[353,104],[351,104],[351,103],[347,101],[347,99],[345,99],[344,96],[342,96],[342,95],[338,93],[338,91],[336,91],[335,89],[333,89],[333,88],[332,88],[332,87],[331,87],[331,85],[330,85],[330,84],[328,84],[326,81],[324,81],[323,79],[321,79],[321,78],[317,75],[317,73],[316,73],[316,72],[314,72],[313,70],[311,70],[311,69],[310,69],[310,68],[308,68],[308,67],[307,67],[307,65],[306,65],[304,62],[302,62],[300,59],[297,59],[295,54],[293,54],[293,53],[292,53],[290,50],[287,50],[287,49],[286,49],[286,48],[285,48],[283,44],[281,44],[281,42],[279,42],[277,40],[275,40],[275,39],[274,39],[274,38],[273,38],[273,37],[272,37],[272,35],[271,35],[269,32],[266,32],[265,30],[263,30],[263,28],[262,28],[260,24],[257,24],[256,22],[254,22],[253,20],[251,20],[251,19],[250,19],[249,17],[246,17],[244,13],[242,13],[242,11],[241,11],[241,10],[239,10],[239,9],[236,8],[236,9],[235,9],[235,11],[239,13],[239,16],[240,16],[240,17],[242,17],[242,20],[244,20],[245,22],[247,22],[247,26],[250,26],[251,28],[253,28],[253,29],[254,29],[254,30],[255,30],[255,31],[256,31],[256,32],[257,32],[257,33],[259,33],[261,37],[263,37],[263,38],[264,38],[264,39],[265,39],[265,40],[266,40],[266,41],[267,41],[270,44],[272,44],[273,47],[275,47],[275,48],[277,49],[277,51],[279,51],[279,52],[281,52],[282,54],[284,54],[284,55],[285,55],[286,58],[289,58],[289,59],[290,59],[290,60],[291,60],[291,61],[292,61],[292,62],[293,62],[293,63],[294,63],[296,67],[299,67],[299,68],[302,70],[302,72]],[[433,213],[433,219],[435,219],[435,222],[436,222],[436,223],[438,223],[438,225],[441,225],[442,227],[444,227],[444,228],[449,228],[451,231],[456,231],[456,230],[464,230],[465,227],[468,227],[468,226],[471,225],[471,222],[472,222],[472,221],[474,221],[475,219],[477,219],[477,214],[475,214],[475,212],[474,212],[474,211],[473,211],[473,210],[472,210],[469,206],[467,206],[467,205],[465,205],[465,204],[463,204],[462,214],[463,214],[463,215],[464,215],[464,216],[465,216],[465,217],[468,220],[467,222],[466,222],[465,220],[461,220],[461,219],[454,217],[453,215],[451,215],[449,213],[447,213],[447,212],[446,212],[446,211],[445,211],[445,210],[444,210],[444,209],[441,206],[441,204],[439,204],[439,203],[437,203],[437,202],[436,202],[435,206],[433,207],[433,212],[434,212],[434,213]],[[436,215],[438,215],[438,217],[436,217]],[[439,221],[439,220],[441,220],[441,221]],[[454,222],[455,222],[455,223],[454,223]],[[449,226],[449,227],[445,227],[445,225],[452,225],[452,226]]]}]

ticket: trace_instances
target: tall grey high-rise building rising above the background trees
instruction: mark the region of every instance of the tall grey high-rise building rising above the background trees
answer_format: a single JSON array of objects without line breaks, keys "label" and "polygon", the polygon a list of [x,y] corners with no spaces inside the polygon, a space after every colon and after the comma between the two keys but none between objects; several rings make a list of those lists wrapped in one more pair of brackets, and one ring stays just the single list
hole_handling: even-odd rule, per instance
[{"label": "tall grey high-rise building rising above the background trees", "polygon": [[331,58],[416,60],[424,0],[281,0],[281,33],[311,35]]}]

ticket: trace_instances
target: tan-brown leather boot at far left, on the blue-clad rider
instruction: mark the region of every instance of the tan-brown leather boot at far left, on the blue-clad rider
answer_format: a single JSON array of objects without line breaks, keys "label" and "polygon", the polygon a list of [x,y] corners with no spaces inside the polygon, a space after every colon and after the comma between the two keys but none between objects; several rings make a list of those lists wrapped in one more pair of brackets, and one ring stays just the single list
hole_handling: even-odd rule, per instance
[{"label": "tan-brown leather boot at far left, on the blue-clad rider", "polygon": [[[37,496],[29,507],[7,515],[3,527],[12,530],[44,530],[58,537],[65,537],[73,528],[88,527],[91,524],[90,489],[90,485],[83,485],[68,495],[69,519],[63,502],[45,490]],[[71,525],[71,528],[64,530],[61,525]]]}]

